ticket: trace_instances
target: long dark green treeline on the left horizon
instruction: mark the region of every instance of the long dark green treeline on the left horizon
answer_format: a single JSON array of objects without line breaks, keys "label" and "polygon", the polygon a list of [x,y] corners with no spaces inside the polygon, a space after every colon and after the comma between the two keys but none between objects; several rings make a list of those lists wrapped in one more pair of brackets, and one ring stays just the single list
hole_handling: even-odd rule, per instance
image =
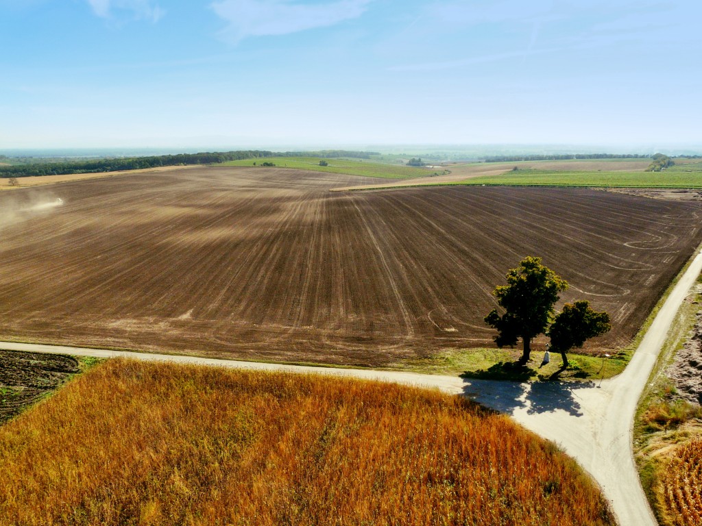
[{"label": "long dark green treeline on the left horizon", "polygon": [[159,155],[65,163],[32,163],[16,166],[0,166],[0,177],[30,177],[41,175],[70,175],[74,173],[117,172],[140,170],[159,166],[187,166],[194,164],[219,164],[242,159],[264,159],[266,157],[352,157],[370,159],[372,151],[322,150],[322,151],[266,151],[243,150],[226,152],[203,152],[199,154]]}]

